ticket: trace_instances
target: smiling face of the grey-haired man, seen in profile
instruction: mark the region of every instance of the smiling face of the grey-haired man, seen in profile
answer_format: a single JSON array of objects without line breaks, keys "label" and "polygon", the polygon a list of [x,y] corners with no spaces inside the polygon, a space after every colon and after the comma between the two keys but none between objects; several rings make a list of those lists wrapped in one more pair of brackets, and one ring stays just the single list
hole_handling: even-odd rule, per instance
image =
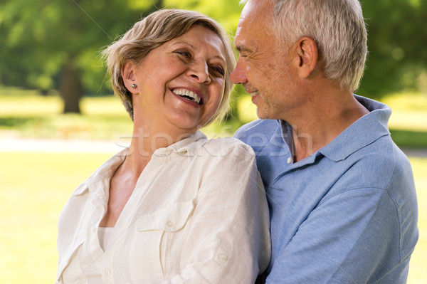
[{"label": "smiling face of the grey-haired man, seen in profile", "polygon": [[286,109],[296,103],[296,81],[289,49],[278,44],[272,18],[268,0],[250,0],[243,8],[235,37],[240,57],[231,81],[252,96],[258,117],[285,119]]}]

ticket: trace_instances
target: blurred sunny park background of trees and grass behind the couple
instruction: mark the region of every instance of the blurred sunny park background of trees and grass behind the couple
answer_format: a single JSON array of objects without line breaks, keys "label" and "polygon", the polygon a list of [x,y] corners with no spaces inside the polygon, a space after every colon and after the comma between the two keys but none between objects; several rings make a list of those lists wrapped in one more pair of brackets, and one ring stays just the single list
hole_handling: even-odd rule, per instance
[{"label": "blurred sunny park background of trees and grass behind the couple", "polygon": [[[369,58],[359,95],[386,102],[408,155],[420,238],[408,283],[427,283],[427,1],[361,1]],[[53,283],[56,223],[71,192],[129,142],[100,50],[159,8],[201,11],[236,31],[238,0],[0,0],[0,284]],[[255,119],[242,88],[225,137]],[[363,260],[361,260],[363,261]],[[309,265],[309,264],[307,264]]]}]

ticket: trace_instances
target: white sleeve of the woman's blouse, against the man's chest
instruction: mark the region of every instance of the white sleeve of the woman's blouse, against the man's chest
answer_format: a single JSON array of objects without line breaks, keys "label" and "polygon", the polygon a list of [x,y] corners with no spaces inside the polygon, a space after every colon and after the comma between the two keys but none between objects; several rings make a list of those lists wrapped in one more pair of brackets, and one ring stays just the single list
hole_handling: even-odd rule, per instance
[{"label": "white sleeve of the woman's blouse, against the man's chest", "polygon": [[270,261],[268,204],[255,154],[233,141],[225,153],[223,148],[202,150],[181,271],[162,284],[255,283]]}]

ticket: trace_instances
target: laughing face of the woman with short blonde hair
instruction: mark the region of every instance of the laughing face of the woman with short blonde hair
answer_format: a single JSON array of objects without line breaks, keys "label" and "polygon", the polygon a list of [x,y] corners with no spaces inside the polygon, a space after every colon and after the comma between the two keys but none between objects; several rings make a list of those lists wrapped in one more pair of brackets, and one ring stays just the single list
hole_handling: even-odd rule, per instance
[{"label": "laughing face of the woman with short blonde hair", "polygon": [[224,93],[225,49],[214,31],[194,26],[130,62],[135,124],[196,132],[216,114]]}]

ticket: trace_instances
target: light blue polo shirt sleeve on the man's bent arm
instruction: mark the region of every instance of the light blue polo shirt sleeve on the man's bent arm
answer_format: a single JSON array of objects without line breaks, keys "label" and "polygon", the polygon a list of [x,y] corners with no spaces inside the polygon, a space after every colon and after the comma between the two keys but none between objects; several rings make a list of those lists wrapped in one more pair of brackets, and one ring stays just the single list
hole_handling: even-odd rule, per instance
[{"label": "light blue polo shirt sleeve on the man's bent arm", "polygon": [[[307,216],[275,258],[266,283],[370,283],[384,272],[381,265],[409,261],[410,254],[399,251],[400,222],[387,189],[342,190]],[[403,276],[392,282],[405,283]]]}]

